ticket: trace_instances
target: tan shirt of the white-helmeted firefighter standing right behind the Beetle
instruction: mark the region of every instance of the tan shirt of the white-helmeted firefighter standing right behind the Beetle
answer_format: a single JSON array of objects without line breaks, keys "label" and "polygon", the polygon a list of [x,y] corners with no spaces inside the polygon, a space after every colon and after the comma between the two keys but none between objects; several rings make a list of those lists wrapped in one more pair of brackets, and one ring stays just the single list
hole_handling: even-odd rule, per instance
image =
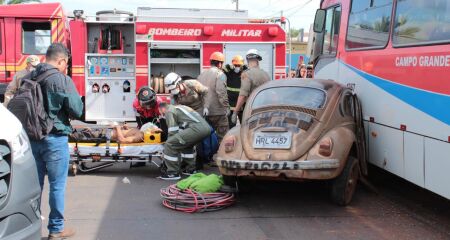
[{"label": "tan shirt of the white-helmeted firefighter standing right behind the Beetle", "polygon": [[251,67],[241,75],[241,89],[240,96],[248,97],[257,87],[270,81],[269,74],[257,67]]}]

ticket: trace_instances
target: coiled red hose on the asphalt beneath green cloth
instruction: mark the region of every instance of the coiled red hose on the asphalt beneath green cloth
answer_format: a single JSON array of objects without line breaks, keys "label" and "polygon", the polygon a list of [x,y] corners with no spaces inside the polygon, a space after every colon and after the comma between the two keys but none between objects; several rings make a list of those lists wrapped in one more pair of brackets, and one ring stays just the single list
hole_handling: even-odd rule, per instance
[{"label": "coiled red hose on the asphalt beneath green cloth", "polygon": [[198,193],[180,190],[176,184],[162,188],[160,194],[165,207],[186,213],[217,211],[235,203],[233,193]]}]

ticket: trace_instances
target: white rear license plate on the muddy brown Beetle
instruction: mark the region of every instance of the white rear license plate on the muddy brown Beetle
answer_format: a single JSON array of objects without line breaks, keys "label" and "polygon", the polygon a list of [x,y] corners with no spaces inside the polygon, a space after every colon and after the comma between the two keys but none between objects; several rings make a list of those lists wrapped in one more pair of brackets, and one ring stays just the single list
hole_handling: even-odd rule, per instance
[{"label": "white rear license plate on the muddy brown Beetle", "polygon": [[290,132],[256,132],[253,138],[253,148],[289,149],[292,133]]}]

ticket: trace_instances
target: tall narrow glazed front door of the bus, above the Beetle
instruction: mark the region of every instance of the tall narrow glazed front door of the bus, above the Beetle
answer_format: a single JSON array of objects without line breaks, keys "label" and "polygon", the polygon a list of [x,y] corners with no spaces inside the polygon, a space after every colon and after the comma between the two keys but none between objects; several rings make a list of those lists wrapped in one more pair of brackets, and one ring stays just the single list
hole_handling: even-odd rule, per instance
[{"label": "tall narrow glazed front door of the bus, above the Beetle", "polygon": [[341,5],[338,4],[316,12],[314,21],[316,37],[311,58],[315,77],[335,79],[339,74],[338,42],[341,9]]}]

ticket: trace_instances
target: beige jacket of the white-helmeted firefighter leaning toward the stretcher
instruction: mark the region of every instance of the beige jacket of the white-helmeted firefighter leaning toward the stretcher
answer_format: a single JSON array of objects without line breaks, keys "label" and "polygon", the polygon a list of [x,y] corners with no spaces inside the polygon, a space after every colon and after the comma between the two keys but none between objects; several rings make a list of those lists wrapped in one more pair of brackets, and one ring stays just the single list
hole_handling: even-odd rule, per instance
[{"label": "beige jacket of the white-helmeted firefighter leaning toward the stretcher", "polygon": [[176,103],[188,106],[202,115],[208,88],[195,79],[181,81],[178,87],[180,93],[174,96]]}]

